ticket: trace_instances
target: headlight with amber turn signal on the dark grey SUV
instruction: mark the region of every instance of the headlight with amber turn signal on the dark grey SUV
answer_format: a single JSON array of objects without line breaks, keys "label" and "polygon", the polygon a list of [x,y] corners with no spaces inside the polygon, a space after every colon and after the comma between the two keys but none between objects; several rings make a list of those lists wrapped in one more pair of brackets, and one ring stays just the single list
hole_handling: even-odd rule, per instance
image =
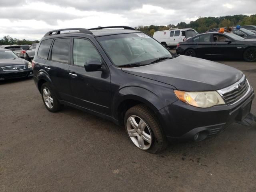
[{"label": "headlight with amber turn signal on the dark grey SUV", "polygon": [[186,92],[174,90],[174,93],[179,100],[195,107],[206,108],[225,104],[220,94],[216,91]]}]

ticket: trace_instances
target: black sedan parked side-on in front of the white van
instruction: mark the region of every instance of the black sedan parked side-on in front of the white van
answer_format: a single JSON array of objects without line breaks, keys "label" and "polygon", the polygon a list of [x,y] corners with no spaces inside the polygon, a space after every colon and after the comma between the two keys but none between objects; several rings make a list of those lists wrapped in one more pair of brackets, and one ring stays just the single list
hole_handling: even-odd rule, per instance
[{"label": "black sedan parked side-on in front of the white van", "polygon": [[256,61],[256,39],[244,39],[233,33],[210,32],[180,42],[177,54],[201,58],[243,58]]}]

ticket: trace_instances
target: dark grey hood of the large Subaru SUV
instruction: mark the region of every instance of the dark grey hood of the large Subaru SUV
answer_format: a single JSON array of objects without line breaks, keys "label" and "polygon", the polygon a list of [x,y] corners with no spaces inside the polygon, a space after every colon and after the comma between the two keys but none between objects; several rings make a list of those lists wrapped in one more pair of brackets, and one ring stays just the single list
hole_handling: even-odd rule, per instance
[{"label": "dark grey hood of the large Subaru SUV", "polygon": [[242,78],[240,70],[209,60],[178,56],[155,64],[122,68],[123,72],[156,80],[184,91],[219,90]]}]

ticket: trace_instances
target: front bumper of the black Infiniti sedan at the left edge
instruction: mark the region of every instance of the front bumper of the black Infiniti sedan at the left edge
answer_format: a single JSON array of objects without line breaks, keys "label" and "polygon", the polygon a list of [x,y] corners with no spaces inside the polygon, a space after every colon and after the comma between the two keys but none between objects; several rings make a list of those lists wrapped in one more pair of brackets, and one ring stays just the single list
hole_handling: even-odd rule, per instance
[{"label": "front bumper of the black Infiniti sedan at the left edge", "polygon": [[15,79],[15,78],[24,78],[24,77],[32,77],[33,70],[32,68],[26,68],[24,70],[19,71],[0,71],[0,80],[4,79]]}]

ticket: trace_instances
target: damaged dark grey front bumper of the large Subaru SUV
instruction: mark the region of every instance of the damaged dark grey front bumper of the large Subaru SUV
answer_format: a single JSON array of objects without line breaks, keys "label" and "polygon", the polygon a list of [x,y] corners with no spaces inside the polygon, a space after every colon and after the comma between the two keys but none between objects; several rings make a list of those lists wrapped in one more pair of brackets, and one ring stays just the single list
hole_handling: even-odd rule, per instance
[{"label": "damaged dark grey front bumper of the large Subaru SUV", "polygon": [[[156,115],[168,140],[194,140],[198,132],[202,133],[204,139],[224,131],[233,122],[248,124],[250,121],[242,121],[252,116],[250,106],[253,98],[254,92],[251,89],[246,98],[230,106],[197,108],[178,100],[159,110]],[[243,113],[244,110],[249,114]],[[252,119],[254,118],[252,116]],[[198,140],[203,139],[198,138]]]}]

